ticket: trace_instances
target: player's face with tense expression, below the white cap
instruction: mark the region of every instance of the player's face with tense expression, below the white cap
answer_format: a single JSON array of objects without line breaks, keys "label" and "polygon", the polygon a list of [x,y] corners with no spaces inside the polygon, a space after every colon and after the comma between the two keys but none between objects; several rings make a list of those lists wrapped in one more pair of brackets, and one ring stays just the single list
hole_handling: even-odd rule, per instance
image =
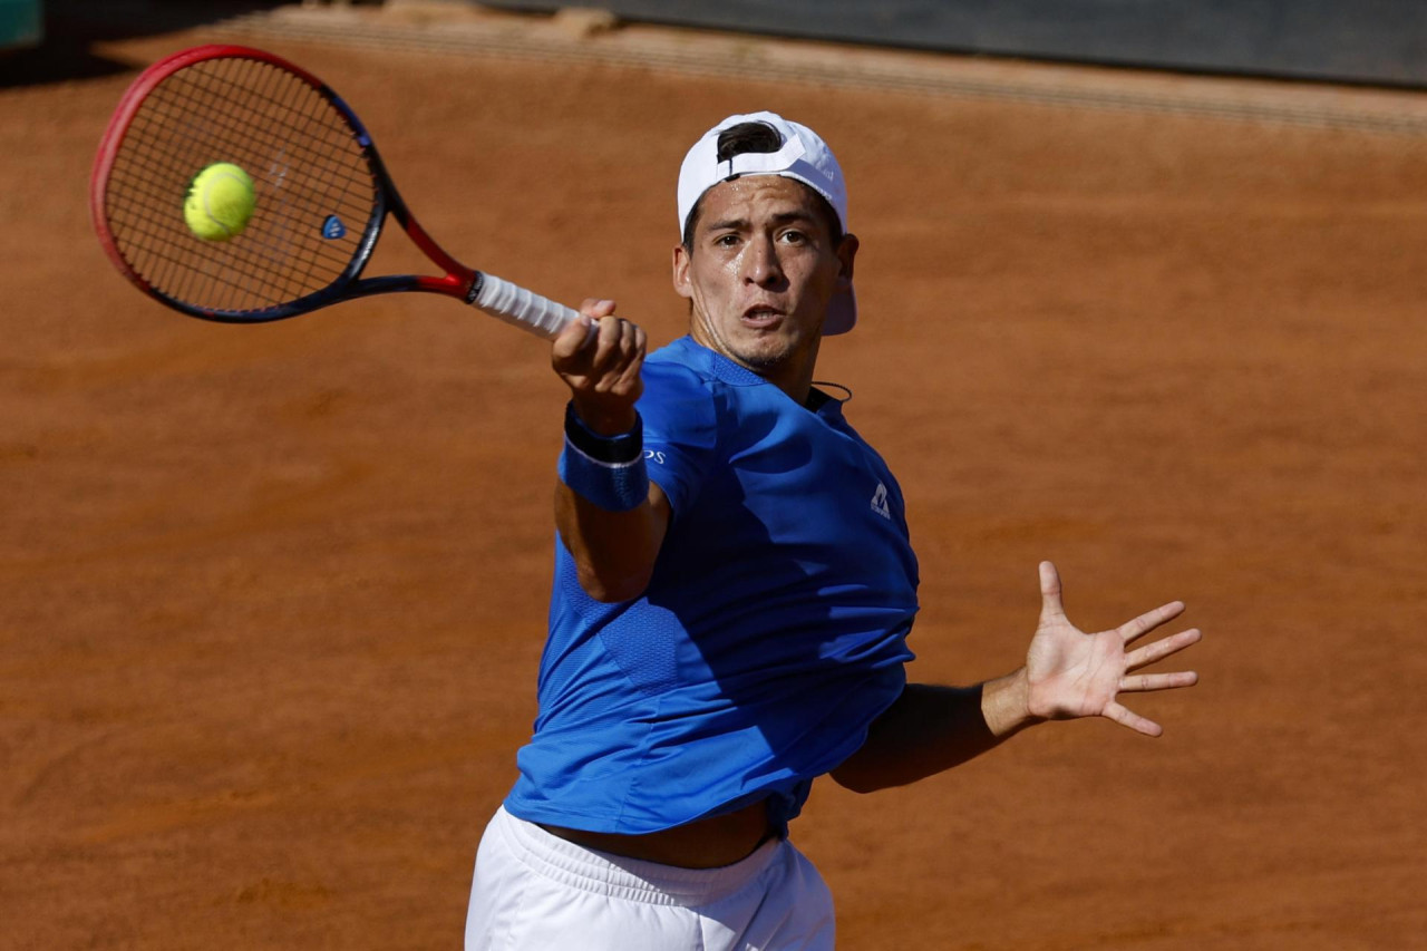
[{"label": "player's face with tense expression, below the white cap", "polygon": [[781,176],[709,188],[692,237],[692,251],[674,248],[674,288],[694,304],[694,340],[785,391],[806,387],[828,304],[852,286],[858,240],[833,247],[818,196]]}]

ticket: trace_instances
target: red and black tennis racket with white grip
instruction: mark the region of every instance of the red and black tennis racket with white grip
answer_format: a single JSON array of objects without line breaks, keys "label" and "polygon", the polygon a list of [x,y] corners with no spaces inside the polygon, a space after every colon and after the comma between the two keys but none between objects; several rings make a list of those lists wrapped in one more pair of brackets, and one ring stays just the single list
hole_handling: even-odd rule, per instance
[{"label": "red and black tennis racket with white grip", "polygon": [[[245,170],[255,197],[225,241],[184,218],[190,183],[217,163]],[[118,270],[193,317],[255,323],[392,291],[450,294],[542,337],[579,316],[442,251],[352,110],[263,50],[201,46],[144,70],[104,131],[90,211]],[[361,276],[388,214],[444,277]]]}]

